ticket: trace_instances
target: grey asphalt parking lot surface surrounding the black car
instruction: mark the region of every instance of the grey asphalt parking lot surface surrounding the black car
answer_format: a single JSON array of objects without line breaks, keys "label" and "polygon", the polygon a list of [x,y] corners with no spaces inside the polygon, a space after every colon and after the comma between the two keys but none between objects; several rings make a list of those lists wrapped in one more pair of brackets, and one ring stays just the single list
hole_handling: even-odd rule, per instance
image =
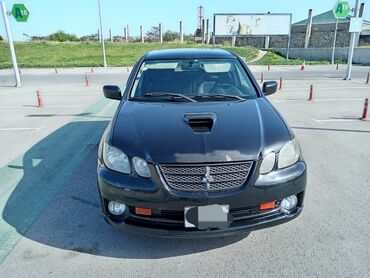
[{"label": "grey asphalt parking lot surface surrounding the black car", "polygon": [[359,118],[370,67],[350,81],[345,66],[251,69],[283,77],[269,99],[309,167],[305,208],[248,237],[204,240],[125,234],[100,215],[97,144],[117,105],[101,86],[123,84],[126,68],[23,70],[22,88],[0,71],[0,276],[368,277],[370,121]]}]

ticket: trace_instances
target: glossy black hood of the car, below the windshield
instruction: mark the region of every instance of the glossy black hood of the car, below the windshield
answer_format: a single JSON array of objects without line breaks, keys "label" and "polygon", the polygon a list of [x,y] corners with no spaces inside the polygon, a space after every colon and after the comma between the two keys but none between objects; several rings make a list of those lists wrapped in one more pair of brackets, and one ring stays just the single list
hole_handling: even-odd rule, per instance
[{"label": "glossy black hood of the car, below the windshield", "polygon": [[[190,119],[209,119],[194,132]],[[126,101],[116,116],[112,145],[153,163],[257,160],[278,151],[292,134],[264,98],[245,101],[153,103]]]}]

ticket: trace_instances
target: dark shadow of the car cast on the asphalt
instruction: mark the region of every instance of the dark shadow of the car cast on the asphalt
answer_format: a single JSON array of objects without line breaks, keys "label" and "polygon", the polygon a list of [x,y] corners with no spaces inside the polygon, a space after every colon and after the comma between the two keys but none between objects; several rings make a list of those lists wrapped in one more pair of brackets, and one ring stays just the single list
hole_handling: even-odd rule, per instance
[{"label": "dark shadow of the car cast on the asphalt", "polygon": [[[23,177],[6,202],[3,219],[39,243],[118,258],[164,258],[220,248],[245,238],[163,239],[127,234],[101,216],[96,185],[97,144],[107,121],[76,121],[34,145]],[[75,256],[74,252],[67,256]]]}]

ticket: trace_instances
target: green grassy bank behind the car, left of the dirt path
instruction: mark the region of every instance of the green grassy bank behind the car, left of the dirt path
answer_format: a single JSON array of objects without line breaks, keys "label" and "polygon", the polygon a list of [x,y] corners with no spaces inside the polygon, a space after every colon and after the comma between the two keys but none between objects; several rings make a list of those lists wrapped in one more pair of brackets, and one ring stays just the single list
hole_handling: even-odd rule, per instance
[{"label": "green grassy bank behind the car, left of the dirt path", "polygon": [[[132,66],[145,52],[154,49],[207,47],[200,44],[179,43],[106,43],[108,66]],[[208,46],[212,47],[212,46]],[[220,48],[234,51],[247,61],[257,56],[257,49],[252,47]],[[100,66],[102,51],[100,43],[94,42],[18,42],[15,51],[20,67],[90,67]],[[0,42],[0,68],[11,68],[9,48],[6,42]]]}]

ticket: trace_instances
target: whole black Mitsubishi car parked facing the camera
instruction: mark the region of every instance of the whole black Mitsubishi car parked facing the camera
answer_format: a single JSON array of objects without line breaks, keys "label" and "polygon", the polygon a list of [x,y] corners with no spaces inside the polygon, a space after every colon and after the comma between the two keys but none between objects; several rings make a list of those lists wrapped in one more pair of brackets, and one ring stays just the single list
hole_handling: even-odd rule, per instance
[{"label": "whole black Mitsubishi car parked facing the camera", "polygon": [[243,60],[219,49],[151,51],[134,66],[99,146],[106,221],[169,237],[248,233],[297,217],[306,164]]}]

